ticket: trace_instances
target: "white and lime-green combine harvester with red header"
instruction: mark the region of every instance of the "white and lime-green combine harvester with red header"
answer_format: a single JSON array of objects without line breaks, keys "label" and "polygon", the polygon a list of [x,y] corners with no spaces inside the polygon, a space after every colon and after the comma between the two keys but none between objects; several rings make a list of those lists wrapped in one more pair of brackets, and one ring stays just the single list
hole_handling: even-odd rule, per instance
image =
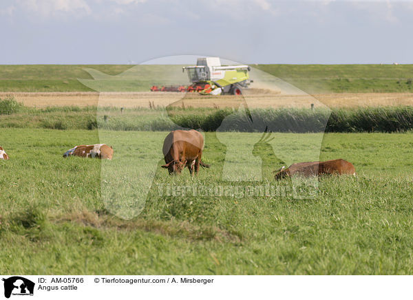
[{"label": "white and lime-green combine harvester with red header", "polygon": [[221,65],[219,57],[198,58],[196,65],[182,67],[187,70],[189,86],[151,87],[152,92],[198,92],[202,95],[241,95],[242,89],[248,87],[248,65]]}]

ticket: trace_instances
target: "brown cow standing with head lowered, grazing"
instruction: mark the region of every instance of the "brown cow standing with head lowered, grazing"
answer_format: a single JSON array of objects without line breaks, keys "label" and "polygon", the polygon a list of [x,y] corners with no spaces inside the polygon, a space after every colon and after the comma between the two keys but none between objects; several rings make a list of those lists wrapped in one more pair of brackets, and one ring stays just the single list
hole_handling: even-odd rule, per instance
[{"label": "brown cow standing with head lowered, grazing", "polygon": [[196,130],[175,130],[171,131],[164,140],[162,152],[165,164],[162,168],[168,169],[169,174],[180,173],[185,166],[189,173],[193,171],[198,175],[200,165],[209,167],[201,162],[202,147],[204,138]]}]

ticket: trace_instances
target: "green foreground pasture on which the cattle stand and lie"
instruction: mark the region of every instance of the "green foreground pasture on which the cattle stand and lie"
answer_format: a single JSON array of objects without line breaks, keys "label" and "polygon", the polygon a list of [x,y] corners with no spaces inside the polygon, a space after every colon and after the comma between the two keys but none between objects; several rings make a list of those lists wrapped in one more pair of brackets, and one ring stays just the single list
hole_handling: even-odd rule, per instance
[{"label": "green foreground pasture on which the cattle stand and lie", "polygon": [[[98,142],[96,130],[1,129],[10,156],[0,161],[3,273],[413,273],[413,133],[327,133],[320,159],[349,160],[357,177],[320,178],[313,200],[159,195],[158,184],[229,184],[221,176],[226,148],[206,133],[204,160],[211,169],[193,180],[186,170],[171,177],[159,160],[145,208],[129,221],[114,217],[100,200],[101,164],[134,164],[158,153],[167,132],[99,134],[114,146],[112,161],[62,158],[75,144]],[[223,134],[245,142],[261,136]],[[274,134],[273,147],[253,149],[263,158],[263,180],[253,184],[275,184],[271,172],[282,164],[282,153],[273,149],[303,151],[297,141],[314,137]]]}]

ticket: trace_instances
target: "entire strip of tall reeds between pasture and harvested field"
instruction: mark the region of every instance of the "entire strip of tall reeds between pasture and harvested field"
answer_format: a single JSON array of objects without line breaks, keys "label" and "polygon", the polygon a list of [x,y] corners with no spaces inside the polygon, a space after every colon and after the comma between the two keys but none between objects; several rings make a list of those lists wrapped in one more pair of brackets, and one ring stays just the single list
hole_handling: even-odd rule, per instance
[{"label": "entire strip of tall reeds between pasture and harvested field", "polygon": [[[397,132],[413,129],[413,107],[333,109],[125,109],[116,107],[24,107],[14,98],[0,99],[0,127],[169,131],[262,132]],[[105,121],[103,115],[109,116]]]}]

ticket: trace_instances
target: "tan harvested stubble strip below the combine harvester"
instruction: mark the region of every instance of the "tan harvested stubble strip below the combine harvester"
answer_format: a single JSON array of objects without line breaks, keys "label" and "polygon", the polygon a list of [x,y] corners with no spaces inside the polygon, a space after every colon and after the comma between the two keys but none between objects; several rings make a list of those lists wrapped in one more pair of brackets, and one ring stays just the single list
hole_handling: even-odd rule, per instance
[{"label": "tan harvested stubble strip below the combine harvester", "polygon": [[238,96],[199,96],[196,94],[170,92],[137,92],[137,93],[23,93],[1,92],[0,98],[13,96],[17,101],[28,107],[49,106],[101,106],[101,107],[149,107],[149,102],[156,107],[204,107],[226,108],[239,107],[246,100],[250,108],[299,107],[308,108],[311,103],[315,107],[370,107],[413,105],[413,93],[361,93],[361,94],[313,94],[313,95],[282,95],[266,92],[262,89],[251,89]]}]

